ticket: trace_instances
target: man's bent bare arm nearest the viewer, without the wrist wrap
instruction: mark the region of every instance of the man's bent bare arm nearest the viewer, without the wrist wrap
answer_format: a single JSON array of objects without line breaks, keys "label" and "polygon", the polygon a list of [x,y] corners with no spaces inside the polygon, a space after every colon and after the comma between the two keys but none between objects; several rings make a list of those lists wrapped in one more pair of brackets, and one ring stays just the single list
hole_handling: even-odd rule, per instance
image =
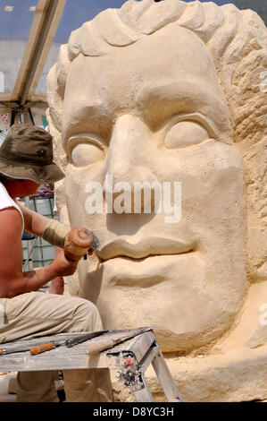
[{"label": "man's bent bare arm nearest the viewer, without the wrist wrap", "polygon": [[36,291],[58,276],[74,273],[77,262],[65,259],[63,251],[44,268],[22,272],[22,219],[19,211],[0,211],[0,296],[12,298],[24,292]]}]

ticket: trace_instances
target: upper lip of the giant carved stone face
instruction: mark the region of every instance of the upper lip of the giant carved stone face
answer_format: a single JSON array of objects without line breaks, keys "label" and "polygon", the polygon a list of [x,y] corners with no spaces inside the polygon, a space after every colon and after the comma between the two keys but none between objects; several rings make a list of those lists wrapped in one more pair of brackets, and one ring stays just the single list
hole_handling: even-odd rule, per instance
[{"label": "upper lip of the giant carved stone face", "polygon": [[129,240],[118,238],[97,251],[102,261],[115,257],[128,257],[133,260],[145,259],[149,256],[163,254],[181,254],[194,251],[194,245],[189,245],[177,240],[149,236],[133,243]]}]

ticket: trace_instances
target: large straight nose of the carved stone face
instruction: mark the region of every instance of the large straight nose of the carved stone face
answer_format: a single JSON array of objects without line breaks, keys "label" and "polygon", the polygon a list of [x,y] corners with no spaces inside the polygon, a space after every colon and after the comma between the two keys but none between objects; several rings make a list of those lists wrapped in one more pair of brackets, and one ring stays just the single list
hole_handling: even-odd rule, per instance
[{"label": "large straight nose of the carved stone face", "polygon": [[[113,136],[108,151],[105,176],[109,176],[109,188],[104,188],[106,194],[111,194],[113,201],[127,190],[131,195],[131,209],[144,211],[144,199],[154,206],[154,189],[151,186],[157,183],[156,177],[149,168],[149,140],[150,131],[138,116],[120,116],[113,128]],[[106,187],[106,185],[104,186]],[[118,190],[118,191],[114,191]],[[135,202],[135,198],[138,200]],[[149,206],[148,206],[149,208]]]}]

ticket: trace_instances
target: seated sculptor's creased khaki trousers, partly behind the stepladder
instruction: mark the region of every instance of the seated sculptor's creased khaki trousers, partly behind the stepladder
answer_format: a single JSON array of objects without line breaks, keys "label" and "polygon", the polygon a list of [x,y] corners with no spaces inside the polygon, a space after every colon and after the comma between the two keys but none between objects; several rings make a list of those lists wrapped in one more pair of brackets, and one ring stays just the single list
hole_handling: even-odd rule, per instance
[{"label": "seated sculptor's creased khaki trousers, partly behind the stepladder", "polygon": [[[30,292],[0,298],[4,317],[0,321],[0,343],[32,339],[73,331],[101,331],[100,315],[88,300]],[[20,402],[58,401],[54,388],[57,372],[18,374],[17,400]],[[64,391],[69,402],[107,402],[113,400],[108,369],[63,371]]]}]

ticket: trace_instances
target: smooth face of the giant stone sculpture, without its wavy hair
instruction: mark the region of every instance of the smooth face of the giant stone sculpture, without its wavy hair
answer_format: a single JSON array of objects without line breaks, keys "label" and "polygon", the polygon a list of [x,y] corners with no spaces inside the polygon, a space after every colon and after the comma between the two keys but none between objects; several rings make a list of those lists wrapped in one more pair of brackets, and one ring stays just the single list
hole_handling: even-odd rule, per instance
[{"label": "smooth face of the giant stone sculpture, without its wavy hair", "polygon": [[[153,326],[165,352],[220,338],[247,290],[244,169],[229,105],[204,41],[183,26],[171,21],[123,47],[75,56],[61,124],[71,225],[100,242],[79,263],[79,295],[96,303],[107,329]],[[135,182],[179,182],[180,219],[144,207],[89,213],[92,183],[107,202],[106,176],[117,186],[113,205],[126,184],[133,203]]]}]

